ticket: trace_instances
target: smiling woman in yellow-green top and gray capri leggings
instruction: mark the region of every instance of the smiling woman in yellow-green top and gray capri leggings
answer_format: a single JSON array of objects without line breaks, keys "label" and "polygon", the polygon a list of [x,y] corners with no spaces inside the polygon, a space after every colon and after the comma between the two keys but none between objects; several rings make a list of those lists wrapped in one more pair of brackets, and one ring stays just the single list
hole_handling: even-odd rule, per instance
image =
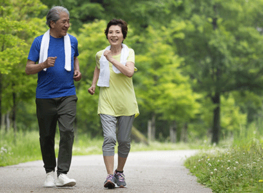
[{"label": "smiling woman in yellow-green top and gray capri leggings", "polygon": [[[100,86],[98,114],[102,123],[104,142],[103,159],[107,169],[104,187],[126,187],[123,167],[131,142],[131,127],[138,116],[138,104],[132,83],[134,75],[134,50],[123,41],[127,37],[127,23],[113,19],[107,24],[106,37],[110,45],[96,54],[96,68],[89,93],[93,95],[96,83]],[[116,136],[116,128],[118,128]],[[114,148],[118,141],[118,165],[114,171]]]}]

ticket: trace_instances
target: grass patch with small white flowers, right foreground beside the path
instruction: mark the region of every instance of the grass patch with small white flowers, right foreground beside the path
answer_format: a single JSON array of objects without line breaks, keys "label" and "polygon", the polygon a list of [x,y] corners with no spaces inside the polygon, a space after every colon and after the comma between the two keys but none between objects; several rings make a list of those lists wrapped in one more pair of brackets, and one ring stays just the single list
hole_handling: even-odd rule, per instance
[{"label": "grass patch with small white flowers, right foreground beside the path", "polygon": [[262,143],[232,145],[190,157],[185,166],[213,192],[263,192]]}]

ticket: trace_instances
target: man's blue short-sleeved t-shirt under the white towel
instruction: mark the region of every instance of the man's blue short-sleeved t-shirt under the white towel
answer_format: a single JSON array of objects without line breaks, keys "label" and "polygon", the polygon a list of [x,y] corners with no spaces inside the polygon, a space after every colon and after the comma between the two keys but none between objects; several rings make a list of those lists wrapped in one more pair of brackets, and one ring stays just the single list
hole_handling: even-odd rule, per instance
[{"label": "man's blue short-sleeved t-shirt under the white towel", "polygon": [[[39,61],[40,45],[43,35],[33,41],[28,59]],[[71,39],[71,71],[65,70],[64,37],[54,38],[50,36],[48,57],[57,57],[53,67],[38,72],[37,99],[53,99],[61,96],[75,95],[74,85],[74,57],[78,57],[78,40],[69,34]]]}]

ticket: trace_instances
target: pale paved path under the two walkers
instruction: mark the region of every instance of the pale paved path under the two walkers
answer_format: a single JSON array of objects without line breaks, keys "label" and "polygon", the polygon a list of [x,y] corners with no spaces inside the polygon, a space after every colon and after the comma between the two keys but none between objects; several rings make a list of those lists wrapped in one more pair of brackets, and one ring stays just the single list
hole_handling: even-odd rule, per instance
[{"label": "pale paved path under the two walkers", "polygon": [[73,156],[68,174],[74,187],[43,187],[45,172],[42,161],[0,167],[0,192],[180,192],[211,193],[197,183],[195,176],[183,166],[185,157],[195,150],[131,152],[125,165],[127,188],[107,190],[107,176],[102,155]]}]

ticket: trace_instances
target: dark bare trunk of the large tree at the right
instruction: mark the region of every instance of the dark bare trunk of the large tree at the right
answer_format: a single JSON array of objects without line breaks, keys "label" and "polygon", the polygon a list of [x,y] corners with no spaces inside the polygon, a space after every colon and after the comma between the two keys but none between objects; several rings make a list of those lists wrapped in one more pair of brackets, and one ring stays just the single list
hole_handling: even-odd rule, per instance
[{"label": "dark bare trunk of the large tree at the right", "polygon": [[220,134],[220,94],[217,92],[212,98],[212,102],[216,105],[214,109],[214,122],[212,125],[212,143],[219,143]]}]

